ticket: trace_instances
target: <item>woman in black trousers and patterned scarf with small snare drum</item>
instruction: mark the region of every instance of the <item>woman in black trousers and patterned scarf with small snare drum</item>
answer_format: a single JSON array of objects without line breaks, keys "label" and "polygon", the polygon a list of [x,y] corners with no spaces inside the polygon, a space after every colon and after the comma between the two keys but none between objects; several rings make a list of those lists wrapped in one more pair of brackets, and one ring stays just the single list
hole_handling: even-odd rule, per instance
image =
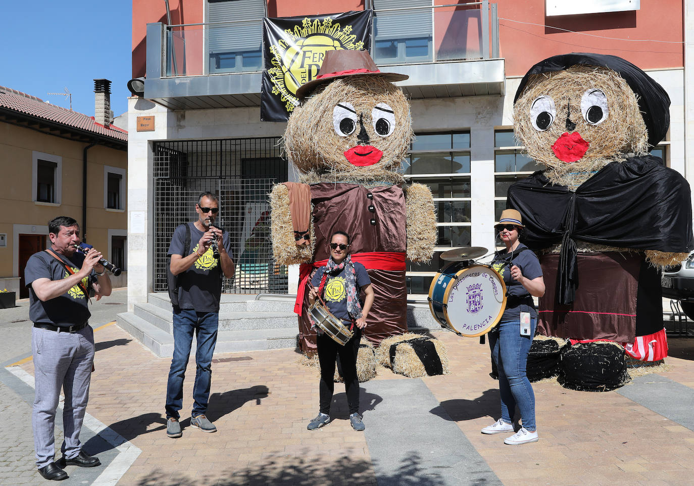
[{"label": "woman in black trousers and patterned scarf with small snare drum", "polygon": [[[327,426],[330,423],[330,402],[335,387],[335,359],[340,357],[342,378],[345,382],[347,403],[349,405],[350,425],[354,430],[364,430],[364,422],[359,414],[359,380],[357,379],[357,353],[362,329],[366,327],[366,316],[373,304],[373,288],[366,268],[352,261],[349,253],[350,237],[345,232],[335,232],[330,237],[330,259],[328,264],[314,274],[308,294],[311,305],[321,295],[328,310],[342,323],[353,330],[353,337],[344,346],[333,341],[328,334],[318,334],[316,346],[321,364],[320,412],[307,426],[308,430]],[[359,291],[366,298],[359,302]]]}]

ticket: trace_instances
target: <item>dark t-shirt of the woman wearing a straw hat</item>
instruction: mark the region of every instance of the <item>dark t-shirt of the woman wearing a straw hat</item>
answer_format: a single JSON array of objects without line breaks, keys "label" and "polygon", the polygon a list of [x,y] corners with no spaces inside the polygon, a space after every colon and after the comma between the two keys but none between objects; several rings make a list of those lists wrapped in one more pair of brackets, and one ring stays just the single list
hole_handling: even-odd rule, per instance
[{"label": "dark t-shirt of the woman wearing a straw hat", "polygon": [[537,310],[532,295],[525,290],[521,282],[511,278],[511,267],[514,265],[520,268],[523,277],[529,280],[542,277],[540,261],[523,243],[518,243],[518,247],[511,254],[508,254],[506,250],[499,252],[498,256],[491,262],[491,268],[501,275],[506,284],[506,309],[501,320],[512,321],[521,318],[521,311],[530,312],[532,318],[537,318]]}]

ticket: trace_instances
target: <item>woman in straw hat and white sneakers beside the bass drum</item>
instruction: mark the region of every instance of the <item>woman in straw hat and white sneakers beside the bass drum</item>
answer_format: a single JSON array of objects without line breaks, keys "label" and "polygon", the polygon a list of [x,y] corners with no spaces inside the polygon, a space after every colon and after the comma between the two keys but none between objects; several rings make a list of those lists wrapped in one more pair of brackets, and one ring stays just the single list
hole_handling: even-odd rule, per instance
[{"label": "woman in straw hat and white sneakers beside the bass drum", "polygon": [[502,276],[508,290],[501,321],[489,333],[489,347],[499,373],[501,418],[483,428],[482,433],[513,432],[517,404],[523,426],[504,440],[504,444],[510,445],[538,440],[535,395],[525,375],[525,364],[537,323],[537,310],[532,298],[545,294],[545,281],[539,260],[518,239],[523,228],[521,213],[515,209],[502,211],[499,224],[494,229],[506,245],[506,250],[496,254],[491,262],[491,267]]}]

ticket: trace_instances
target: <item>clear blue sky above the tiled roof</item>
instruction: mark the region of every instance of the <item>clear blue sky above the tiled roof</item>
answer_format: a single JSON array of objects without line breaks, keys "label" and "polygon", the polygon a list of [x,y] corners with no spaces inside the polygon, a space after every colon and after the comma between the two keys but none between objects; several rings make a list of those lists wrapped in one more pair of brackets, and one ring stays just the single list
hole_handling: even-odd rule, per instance
[{"label": "clear blue sky above the tiled roof", "polygon": [[0,86],[94,116],[94,79],[110,79],[111,109],[128,111],[131,0],[3,1]]}]

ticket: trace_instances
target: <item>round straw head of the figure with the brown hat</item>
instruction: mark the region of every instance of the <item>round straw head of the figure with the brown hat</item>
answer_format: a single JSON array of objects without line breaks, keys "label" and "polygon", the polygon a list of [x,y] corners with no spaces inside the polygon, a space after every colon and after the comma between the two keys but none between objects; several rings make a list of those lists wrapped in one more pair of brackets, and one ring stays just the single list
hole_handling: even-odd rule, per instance
[{"label": "round straw head of the figure with the brown hat", "polygon": [[[344,152],[358,144],[359,126],[348,136],[339,136],[333,127],[333,109],[339,103],[352,104],[362,117],[369,144],[383,152],[373,165],[356,167]],[[372,111],[385,103],[393,109],[395,127],[389,136],[375,132]],[[354,76],[336,79],[294,109],[287,121],[284,146],[287,158],[301,172],[301,182],[385,181],[401,184],[397,170],[407,155],[412,140],[412,118],[403,90],[380,76]]]}]

